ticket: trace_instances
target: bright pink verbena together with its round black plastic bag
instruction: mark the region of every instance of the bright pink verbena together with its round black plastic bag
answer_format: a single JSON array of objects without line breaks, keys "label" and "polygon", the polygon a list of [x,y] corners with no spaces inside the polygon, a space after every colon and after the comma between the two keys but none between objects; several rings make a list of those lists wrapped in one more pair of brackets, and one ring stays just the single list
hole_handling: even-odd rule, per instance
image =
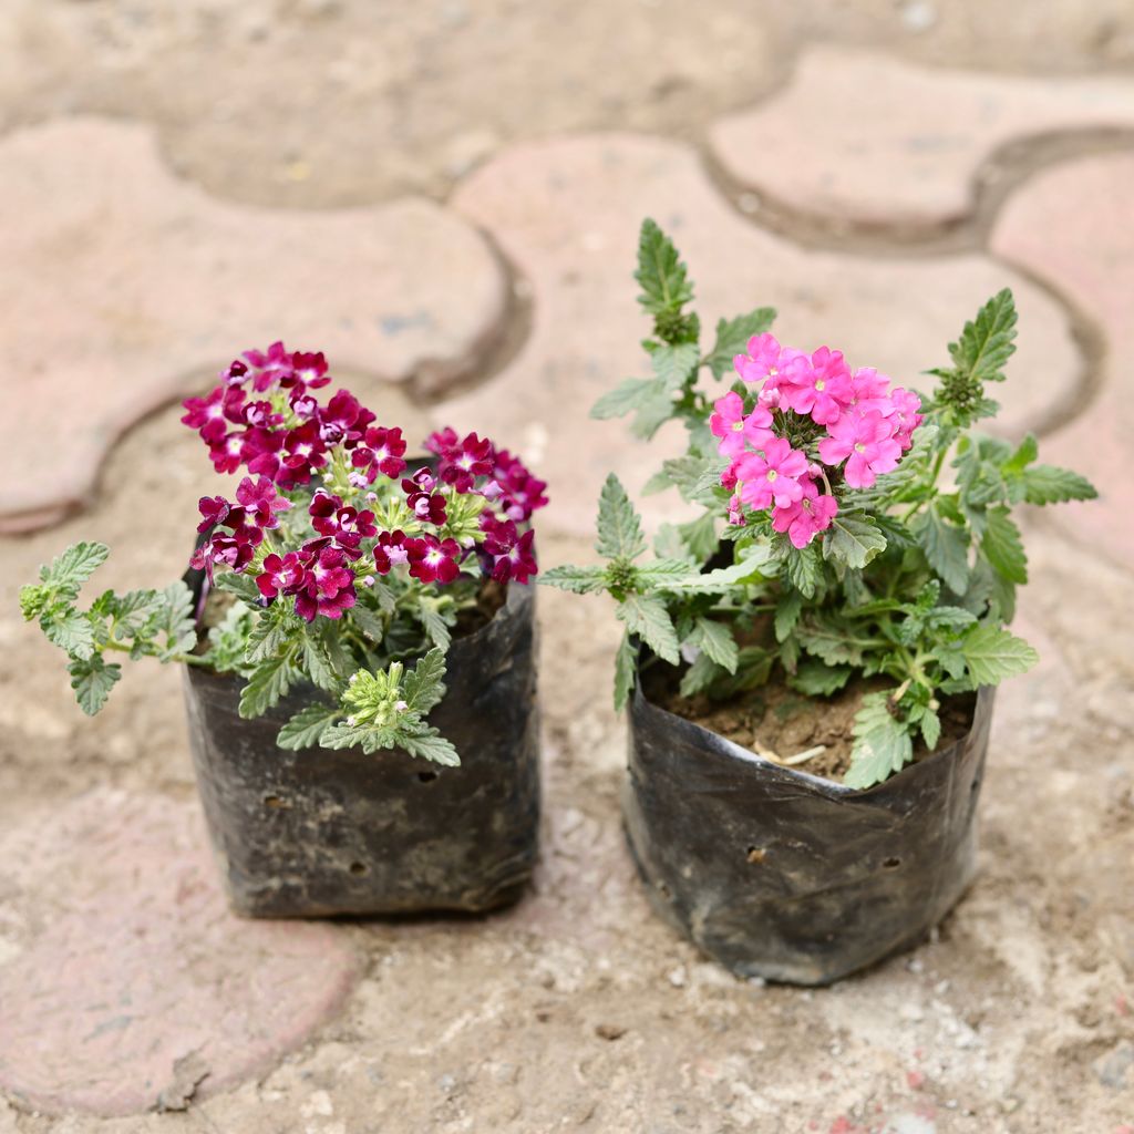
[{"label": "bright pink verbena together with its round black plastic bag", "polygon": [[[973,426],[997,405],[1016,315],[1001,291],[931,371],[931,398],[838,350],[784,347],[773,312],[717,325],[708,353],[672,243],[642,228],[652,378],[606,395],[684,456],[646,492],[697,509],[642,526],[615,476],[601,566],[545,583],[607,592],[626,633],[629,844],[655,907],[744,975],[821,984],[913,942],[974,870],[996,685],[1036,660],[1006,625],[1026,582],[1023,503],[1095,494]],[[702,382],[725,388],[710,392]]]}]

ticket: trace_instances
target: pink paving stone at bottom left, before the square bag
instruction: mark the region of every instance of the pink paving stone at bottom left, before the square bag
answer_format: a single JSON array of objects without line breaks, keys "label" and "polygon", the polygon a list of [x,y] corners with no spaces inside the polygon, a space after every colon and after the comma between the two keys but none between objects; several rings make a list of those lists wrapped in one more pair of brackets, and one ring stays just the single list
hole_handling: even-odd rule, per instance
[{"label": "pink paving stone at bottom left, before the square bag", "polygon": [[49,1112],[153,1107],[302,1044],[358,975],[344,931],[226,907],[196,804],[100,790],[0,839],[0,1089]]}]

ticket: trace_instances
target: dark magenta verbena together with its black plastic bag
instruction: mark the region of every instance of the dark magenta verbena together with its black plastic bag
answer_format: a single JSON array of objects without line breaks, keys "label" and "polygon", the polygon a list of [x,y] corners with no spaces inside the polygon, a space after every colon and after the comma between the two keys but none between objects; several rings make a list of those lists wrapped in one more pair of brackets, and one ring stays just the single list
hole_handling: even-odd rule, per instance
[{"label": "dark magenta verbena together with its black plastic bag", "polygon": [[[249,350],[181,418],[235,494],[203,498],[186,577],[79,589],[77,543],[23,587],[96,713],[122,658],[185,663],[189,739],[232,906],[482,911],[536,853],[532,513],[545,485],[475,433],[397,426],[322,354]],[[115,660],[118,659],[118,660]],[[438,770],[440,769],[440,770]]]}]

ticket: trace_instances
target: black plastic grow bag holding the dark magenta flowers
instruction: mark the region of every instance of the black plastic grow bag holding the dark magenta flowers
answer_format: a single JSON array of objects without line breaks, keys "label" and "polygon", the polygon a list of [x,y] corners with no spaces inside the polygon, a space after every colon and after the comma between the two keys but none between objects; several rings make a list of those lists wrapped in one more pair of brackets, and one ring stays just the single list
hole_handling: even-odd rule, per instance
[{"label": "black plastic grow bag holding the dark magenta flowers", "polygon": [[239,678],[186,667],[197,788],[237,913],[482,912],[519,896],[540,816],[533,592],[510,585],[496,617],[449,650],[429,720],[459,768],[399,751],[288,752],[276,734],[315,689],[244,720]]}]

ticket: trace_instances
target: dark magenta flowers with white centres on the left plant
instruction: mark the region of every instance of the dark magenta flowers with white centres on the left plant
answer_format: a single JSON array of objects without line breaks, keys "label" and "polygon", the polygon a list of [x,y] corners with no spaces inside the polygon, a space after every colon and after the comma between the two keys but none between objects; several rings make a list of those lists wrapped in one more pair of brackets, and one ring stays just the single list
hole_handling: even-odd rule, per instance
[{"label": "dark magenta flowers with white centres on the left plant", "polygon": [[[423,584],[454,582],[469,556],[502,583],[526,583],[536,573],[534,534],[526,525],[548,502],[547,484],[476,433],[460,438],[445,429],[431,434],[426,449],[434,455],[434,468],[417,468],[400,482],[418,530],[379,531],[374,510],[363,503],[380,497],[366,490],[380,474],[391,481],[401,476],[406,442],[399,429],[376,425],[374,414],[346,390],[320,405],[311,391],[329,381],[322,354],[289,353],[276,342],[266,352],[245,352],[210,395],[185,403],[181,421],[200,432],[218,472],[244,465],[255,475],[240,481],[235,502],[202,498],[197,531],[208,535],[193,567],[211,581],[218,565],[240,573],[262,558],[255,579],[263,601],[294,598],[296,613],[307,621],[316,615],[340,618],[357,602],[356,584],[372,585],[372,573],[384,576],[400,565]],[[312,477],[325,479],[336,464],[336,483],[349,482],[359,494],[358,507],[323,488],[307,496]],[[381,499],[389,501],[391,492],[396,499],[390,486]],[[481,534],[462,547],[442,530],[456,497],[468,493],[486,503]],[[291,508],[297,496],[306,503],[313,538],[297,550],[257,557],[265,532],[280,526],[278,514]],[[435,534],[421,530],[426,527]]]}]

